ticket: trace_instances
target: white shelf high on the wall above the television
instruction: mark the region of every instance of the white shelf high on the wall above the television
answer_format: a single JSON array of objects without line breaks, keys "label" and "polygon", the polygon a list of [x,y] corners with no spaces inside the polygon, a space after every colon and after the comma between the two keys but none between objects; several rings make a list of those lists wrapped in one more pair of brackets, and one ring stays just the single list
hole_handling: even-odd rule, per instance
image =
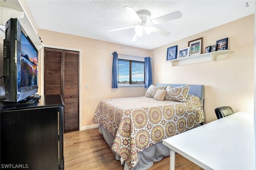
[{"label": "white shelf high on the wall above the television", "polygon": [[18,18],[20,21],[20,25],[24,28],[28,37],[34,43],[35,47],[38,49],[42,49],[43,45],[34,29],[31,21],[29,20],[22,4],[19,0],[7,0],[0,1],[0,11],[1,11],[1,25],[5,25],[6,21],[10,18]]}]

